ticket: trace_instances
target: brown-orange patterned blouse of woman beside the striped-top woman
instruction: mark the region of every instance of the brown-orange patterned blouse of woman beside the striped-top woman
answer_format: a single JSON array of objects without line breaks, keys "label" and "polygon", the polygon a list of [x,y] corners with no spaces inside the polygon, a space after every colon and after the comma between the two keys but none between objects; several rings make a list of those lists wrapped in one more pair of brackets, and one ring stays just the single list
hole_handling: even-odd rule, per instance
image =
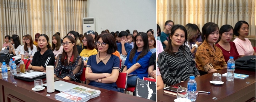
[{"label": "brown-orange patterned blouse of woman beside the striped-top woman", "polygon": [[213,47],[215,52],[206,40],[198,47],[195,55],[198,70],[207,72],[213,68],[219,70],[227,66],[221,49],[216,47],[215,44],[213,44]]}]

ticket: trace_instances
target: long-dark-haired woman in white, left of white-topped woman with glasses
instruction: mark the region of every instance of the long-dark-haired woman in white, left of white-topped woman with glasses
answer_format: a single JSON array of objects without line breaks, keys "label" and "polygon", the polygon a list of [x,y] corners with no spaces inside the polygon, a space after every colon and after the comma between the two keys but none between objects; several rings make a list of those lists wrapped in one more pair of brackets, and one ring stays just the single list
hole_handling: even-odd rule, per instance
[{"label": "long-dark-haired woman in white, left of white-topped woman with glasses", "polygon": [[19,55],[20,54],[20,38],[17,35],[12,35],[11,37],[11,43],[9,44],[9,53],[13,55]]}]

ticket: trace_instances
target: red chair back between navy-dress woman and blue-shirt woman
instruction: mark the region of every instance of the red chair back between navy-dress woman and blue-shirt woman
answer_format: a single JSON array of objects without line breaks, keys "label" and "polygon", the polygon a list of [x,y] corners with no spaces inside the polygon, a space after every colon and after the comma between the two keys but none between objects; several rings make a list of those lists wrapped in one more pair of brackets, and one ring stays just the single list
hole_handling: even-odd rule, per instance
[{"label": "red chair back between navy-dress woman and blue-shirt woman", "polygon": [[118,78],[116,80],[117,88],[123,88],[124,93],[126,91],[126,84],[127,84],[127,73],[119,73]]}]

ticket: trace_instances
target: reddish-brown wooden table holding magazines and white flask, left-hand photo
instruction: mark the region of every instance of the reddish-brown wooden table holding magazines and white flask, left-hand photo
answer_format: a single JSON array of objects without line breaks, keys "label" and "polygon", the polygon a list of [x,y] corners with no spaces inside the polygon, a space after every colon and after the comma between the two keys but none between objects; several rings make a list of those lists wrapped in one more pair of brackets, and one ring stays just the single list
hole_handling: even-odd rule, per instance
[{"label": "reddish-brown wooden table holding magazines and white flask, left-hand photo", "polygon": [[[2,74],[0,74],[0,76],[2,76]],[[46,80],[46,78],[43,80]],[[101,91],[100,96],[90,99],[88,102],[154,102],[149,99],[105,90],[103,88],[76,83],[70,80],[63,81]],[[47,93],[47,88],[45,88],[43,91],[36,92],[32,91],[33,87],[34,82],[26,82],[16,79],[10,74],[10,72],[8,72],[7,79],[0,77],[0,102],[59,102],[54,98],[55,94],[59,93],[58,91]],[[47,94],[50,94],[50,96],[46,96]]]}]

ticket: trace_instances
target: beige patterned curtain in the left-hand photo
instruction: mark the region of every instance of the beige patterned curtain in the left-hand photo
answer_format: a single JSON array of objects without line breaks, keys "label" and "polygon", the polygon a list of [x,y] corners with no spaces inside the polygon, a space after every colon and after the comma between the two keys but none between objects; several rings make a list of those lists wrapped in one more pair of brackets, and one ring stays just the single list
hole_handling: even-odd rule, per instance
[{"label": "beige patterned curtain in the left-hand photo", "polygon": [[17,34],[61,33],[63,38],[68,31],[82,33],[82,17],[86,17],[86,0],[0,0],[0,46],[4,37]]}]

